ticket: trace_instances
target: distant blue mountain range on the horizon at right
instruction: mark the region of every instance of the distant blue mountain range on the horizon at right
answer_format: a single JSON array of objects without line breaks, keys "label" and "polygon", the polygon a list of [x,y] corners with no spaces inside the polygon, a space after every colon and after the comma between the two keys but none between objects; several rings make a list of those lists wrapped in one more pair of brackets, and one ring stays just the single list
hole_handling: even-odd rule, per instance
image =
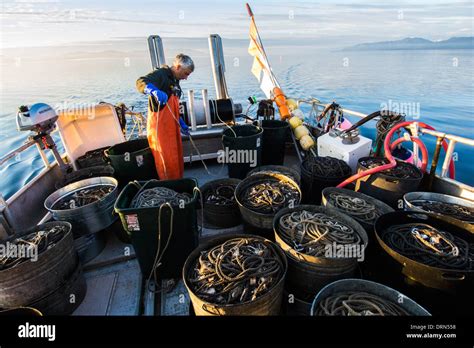
[{"label": "distant blue mountain range on the horizon at right", "polygon": [[344,51],[375,51],[375,50],[443,50],[443,49],[474,49],[474,36],[452,37],[443,41],[430,41],[413,37],[397,41],[362,43],[344,48]]}]

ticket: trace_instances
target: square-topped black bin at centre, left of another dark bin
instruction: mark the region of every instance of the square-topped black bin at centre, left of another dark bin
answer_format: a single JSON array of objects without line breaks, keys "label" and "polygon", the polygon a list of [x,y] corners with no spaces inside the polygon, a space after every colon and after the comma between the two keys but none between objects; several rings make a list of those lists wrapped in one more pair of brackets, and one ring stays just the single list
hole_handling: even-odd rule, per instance
[{"label": "square-topped black bin at centre, left of another dark bin", "polygon": [[250,124],[224,130],[222,144],[229,178],[244,179],[252,168],[261,164],[262,134],[262,128]]}]

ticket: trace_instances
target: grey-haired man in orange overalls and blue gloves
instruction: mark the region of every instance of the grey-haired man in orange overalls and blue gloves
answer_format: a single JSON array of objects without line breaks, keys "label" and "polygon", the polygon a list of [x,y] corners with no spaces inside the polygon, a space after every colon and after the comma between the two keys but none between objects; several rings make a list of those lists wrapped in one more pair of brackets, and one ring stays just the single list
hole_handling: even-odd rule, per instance
[{"label": "grey-haired man in orange overalls and blue gloves", "polygon": [[137,80],[137,89],[148,95],[147,137],[155,158],[156,170],[162,180],[183,177],[183,146],[180,130],[189,135],[189,128],[179,116],[180,80],[194,71],[193,60],[178,54],[173,66],[161,66]]}]

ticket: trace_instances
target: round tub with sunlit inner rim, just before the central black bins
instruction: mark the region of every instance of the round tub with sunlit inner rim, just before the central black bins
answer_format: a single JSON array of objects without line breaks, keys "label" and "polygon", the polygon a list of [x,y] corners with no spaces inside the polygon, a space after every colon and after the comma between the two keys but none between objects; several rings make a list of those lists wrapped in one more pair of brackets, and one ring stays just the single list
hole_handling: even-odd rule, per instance
[{"label": "round tub with sunlit inner rim, just before the central black bins", "polygon": [[286,175],[278,173],[259,173],[251,175],[245,180],[242,180],[242,182],[237,186],[235,190],[235,197],[237,200],[237,204],[239,205],[240,213],[242,214],[242,219],[245,223],[248,224],[248,227],[250,228],[249,232],[254,234],[259,234],[259,230],[272,231],[273,217],[275,216],[276,212],[260,213],[250,209],[244,204],[243,195],[250,187],[264,182],[285,183],[286,185],[288,185],[289,188],[297,192],[297,198],[295,198],[293,202],[285,202],[285,204],[281,206],[281,209],[289,205],[296,206],[300,203],[301,200],[301,190],[298,187],[298,184]]}]

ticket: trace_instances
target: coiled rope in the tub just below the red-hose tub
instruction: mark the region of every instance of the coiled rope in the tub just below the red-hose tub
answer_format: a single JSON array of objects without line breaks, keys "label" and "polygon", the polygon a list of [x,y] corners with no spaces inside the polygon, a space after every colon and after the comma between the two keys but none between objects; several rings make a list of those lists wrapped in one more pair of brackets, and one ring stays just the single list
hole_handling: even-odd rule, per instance
[{"label": "coiled rope in the tub just below the red-hose tub", "polygon": [[368,225],[373,225],[375,220],[382,215],[382,212],[374,204],[359,197],[331,192],[327,200],[336,209]]}]

